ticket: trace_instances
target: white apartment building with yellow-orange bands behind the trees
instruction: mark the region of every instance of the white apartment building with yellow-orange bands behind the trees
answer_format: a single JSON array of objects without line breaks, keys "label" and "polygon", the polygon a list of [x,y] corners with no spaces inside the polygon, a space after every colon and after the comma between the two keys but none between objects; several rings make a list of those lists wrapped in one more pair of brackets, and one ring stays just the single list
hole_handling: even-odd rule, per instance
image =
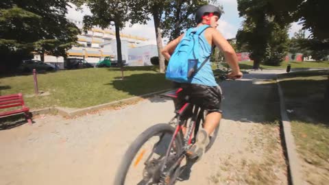
[{"label": "white apartment building with yellow-orange bands behind the trees", "polygon": [[[112,60],[117,60],[117,42],[115,40],[114,29],[101,29],[100,27],[93,27],[87,32],[83,31],[82,21],[69,20],[75,23],[81,30],[81,34],[77,36],[78,46],[72,47],[67,51],[68,58],[84,58],[91,64],[96,64],[101,58],[110,56]],[[130,34],[120,33],[121,50],[123,60],[129,57],[129,49],[136,48],[143,44],[148,38],[133,36]],[[144,52],[145,53],[145,52]],[[154,53],[154,52],[153,52]],[[40,56],[34,56],[35,60],[40,60]],[[56,58],[54,56],[45,56],[45,62],[58,63],[59,66],[64,66],[64,59],[62,57]]]}]

